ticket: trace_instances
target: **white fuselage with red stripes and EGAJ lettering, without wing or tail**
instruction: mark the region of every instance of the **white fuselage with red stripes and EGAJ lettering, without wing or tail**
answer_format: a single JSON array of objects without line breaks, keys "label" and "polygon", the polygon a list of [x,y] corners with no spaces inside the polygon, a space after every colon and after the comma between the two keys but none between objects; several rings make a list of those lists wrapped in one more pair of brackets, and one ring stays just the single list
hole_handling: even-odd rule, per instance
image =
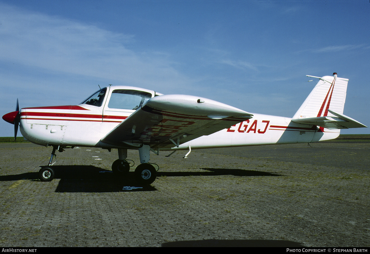
[{"label": "white fuselage with red stripes and EGAJ lettering, without wing or tail", "polygon": [[[129,86],[110,86],[99,90],[79,105],[23,108],[20,110],[20,131],[24,138],[38,145],[129,148],[101,142],[112,129],[137,108],[155,96],[152,90]],[[177,150],[248,145],[272,145],[314,142],[332,139],[336,130],[324,133],[312,125],[291,122],[292,118],[253,114],[251,119],[237,123],[211,135],[164,148]]]}]

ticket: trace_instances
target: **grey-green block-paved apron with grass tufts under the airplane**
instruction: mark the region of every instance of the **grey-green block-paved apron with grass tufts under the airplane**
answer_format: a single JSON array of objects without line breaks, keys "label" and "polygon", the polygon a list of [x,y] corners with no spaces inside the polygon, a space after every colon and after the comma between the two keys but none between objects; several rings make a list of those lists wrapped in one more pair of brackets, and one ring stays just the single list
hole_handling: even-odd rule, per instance
[{"label": "grey-green block-paved apron with grass tufts under the airplane", "polygon": [[1,245],[369,247],[370,143],[311,146],[151,154],[155,182],[124,191],[135,182],[110,172],[115,149],[57,153],[41,182],[50,147],[0,144]]}]

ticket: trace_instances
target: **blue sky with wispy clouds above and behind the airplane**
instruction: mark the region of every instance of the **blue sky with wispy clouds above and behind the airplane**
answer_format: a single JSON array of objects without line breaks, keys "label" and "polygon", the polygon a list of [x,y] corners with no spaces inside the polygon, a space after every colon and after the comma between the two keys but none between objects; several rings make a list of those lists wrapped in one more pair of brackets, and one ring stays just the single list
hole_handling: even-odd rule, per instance
[{"label": "blue sky with wispy clouds above and behind the airplane", "polygon": [[367,0],[0,0],[0,115],[113,84],[292,117],[316,84],[305,75],[337,72],[344,114],[370,126],[369,21]]}]

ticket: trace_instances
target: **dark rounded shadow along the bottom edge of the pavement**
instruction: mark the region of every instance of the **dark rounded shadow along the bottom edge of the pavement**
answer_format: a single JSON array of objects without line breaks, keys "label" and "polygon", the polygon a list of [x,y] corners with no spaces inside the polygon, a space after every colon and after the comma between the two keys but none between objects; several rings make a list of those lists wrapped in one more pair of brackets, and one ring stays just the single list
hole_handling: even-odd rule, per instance
[{"label": "dark rounded shadow along the bottom edge of the pavement", "polygon": [[285,240],[198,240],[176,241],[162,247],[305,247],[301,243]]}]

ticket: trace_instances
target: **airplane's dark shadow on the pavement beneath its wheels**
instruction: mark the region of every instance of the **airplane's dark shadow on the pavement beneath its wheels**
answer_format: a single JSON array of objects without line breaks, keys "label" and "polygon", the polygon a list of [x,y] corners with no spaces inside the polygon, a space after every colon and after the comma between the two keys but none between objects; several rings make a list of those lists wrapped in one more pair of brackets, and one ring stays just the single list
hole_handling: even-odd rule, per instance
[{"label": "airplane's dark shadow on the pavement beneath its wheels", "polygon": [[[112,171],[91,165],[60,165],[53,166],[55,178],[60,179],[55,192],[122,192],[122,191],[155,191],[151,185],[141,186],[134,180],[134,172],[130,171],[125,178],[117,178]],[[189,176],[280,176],[263,171],[226,168],[202,168],[199,172],[157,172],[157,177],[189,177]],[[30,179],[40,181],[38,172],[28,172],[19,175],[0,176],[0,181],[17,181]],[[45,182],[45,184],[48,184]],[[123,189],[123,187],[140,187]]]}]

